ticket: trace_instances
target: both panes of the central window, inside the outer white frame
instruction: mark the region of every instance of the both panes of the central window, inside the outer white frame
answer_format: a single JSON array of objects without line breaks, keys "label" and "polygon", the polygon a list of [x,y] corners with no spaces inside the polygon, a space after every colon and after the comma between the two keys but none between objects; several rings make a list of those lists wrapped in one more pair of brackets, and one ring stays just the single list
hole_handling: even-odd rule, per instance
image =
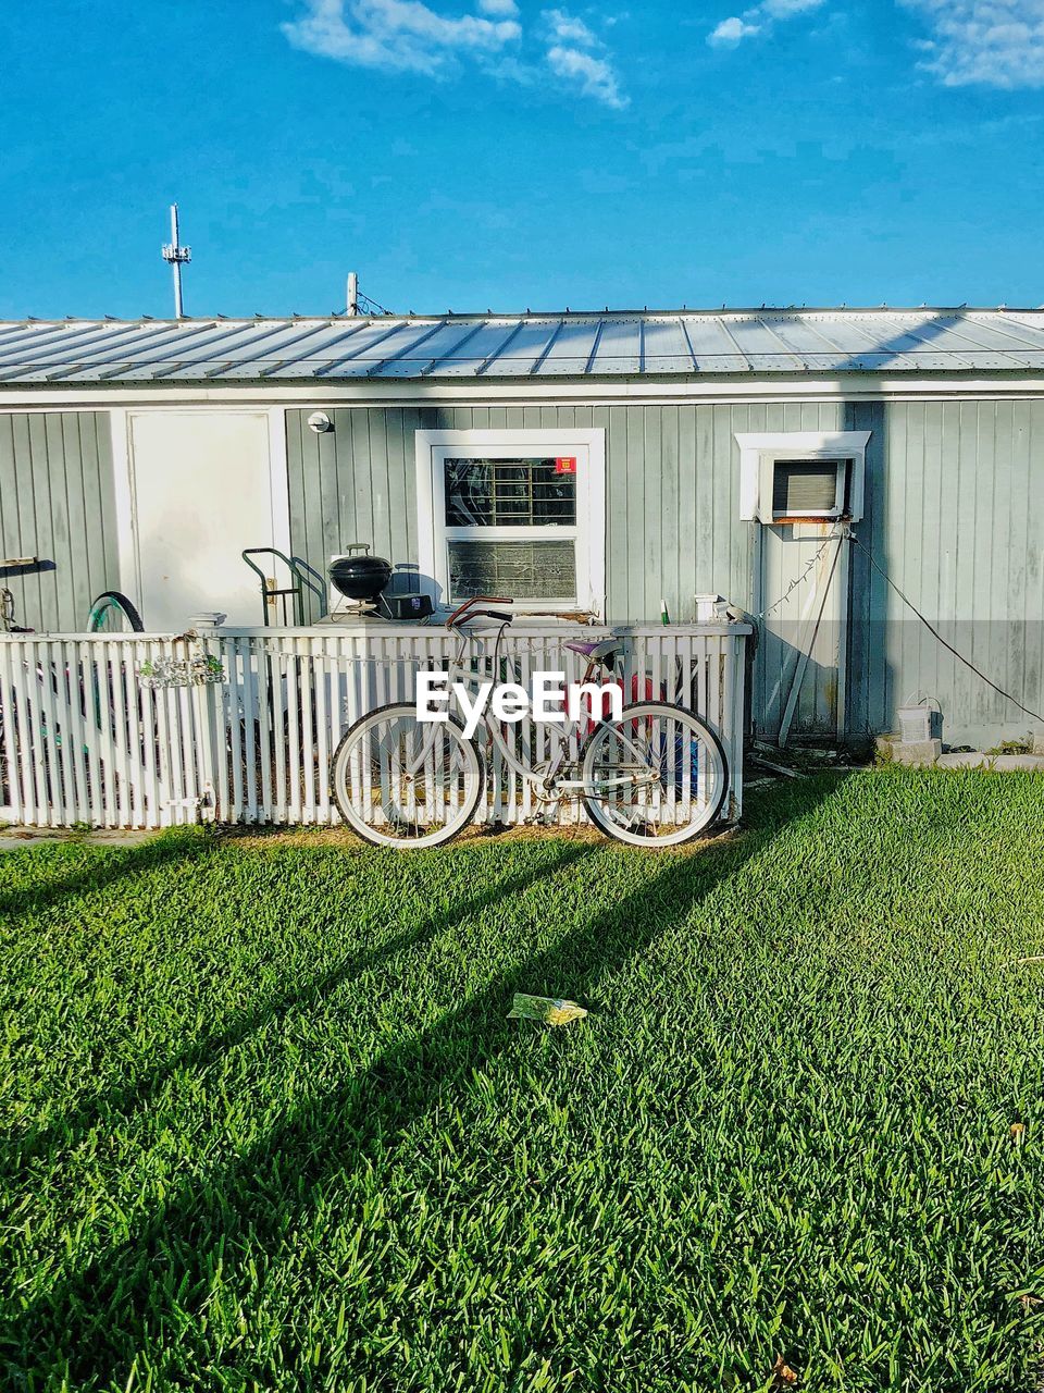
[{"label": "both panes of the central window, inside the outer white frame", "polygon": [[576,458],[447,458],[443,468],[451,603],[576,603]]}]

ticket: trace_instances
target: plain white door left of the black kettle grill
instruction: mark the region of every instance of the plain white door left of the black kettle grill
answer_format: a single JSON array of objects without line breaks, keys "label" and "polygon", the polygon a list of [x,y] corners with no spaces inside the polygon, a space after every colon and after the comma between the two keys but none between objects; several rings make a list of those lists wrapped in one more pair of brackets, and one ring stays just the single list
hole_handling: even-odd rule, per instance
[{"label": "plain white door left of the black kettle grill", "polygon": [[264,412],[142,411],[129,418],[134,570],[146,630],[223,610],[260,624],[260,582],[241,553],[273,546]]}]

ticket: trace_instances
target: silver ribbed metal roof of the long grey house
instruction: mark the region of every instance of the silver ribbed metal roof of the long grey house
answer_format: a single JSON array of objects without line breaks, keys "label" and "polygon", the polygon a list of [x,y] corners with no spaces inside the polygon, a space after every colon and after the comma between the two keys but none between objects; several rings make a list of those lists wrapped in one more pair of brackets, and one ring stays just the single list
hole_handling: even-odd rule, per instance
[{"label": "silver ribbed metal roof of the long grey house", "polygon": [[0,322],[0,386],[1019,369],[1044,369],[1044,311]]}]

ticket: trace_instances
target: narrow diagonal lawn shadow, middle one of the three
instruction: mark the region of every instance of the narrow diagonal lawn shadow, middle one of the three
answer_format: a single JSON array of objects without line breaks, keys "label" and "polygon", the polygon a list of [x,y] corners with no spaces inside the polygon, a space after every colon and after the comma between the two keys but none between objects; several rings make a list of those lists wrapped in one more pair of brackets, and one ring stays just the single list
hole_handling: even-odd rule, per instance
[{"label": "narrow diagonal lawn shadow, middle one of the three", "polygon": [[274,1017],[306,1010],[322,1000],[326,993],[335,990],[361,972],[390,963],[406,949],[429,943],[445,929],[452,928],[454,924],[459,924],[473,914],[480,914],[512,894],[528,890],[541,879],[557,875],[583,857],[589,857],[594,850],[592,846],[567,847],[546,865],[519,872],[504,880],[494,880],[480,893],[461,900],[440,914],[429,915],[413,928],[394,935],[386,943],[351,954],[306,986],[276,992],[256,1003],[251,1010],[237,1013],[219,1029],[196,1036],[182,1049],[159,1063],[153,1063],[143,1078],[124,1087],[99,1091],[95,1096],[85,1099],[74,1112],[65,1113],[46,1127],[25,1131],[14,1138],[0,1138],[0,1166],[8,1173],[8,1177],[14,1177],[33,1156],[49,1152],[54,1146],[60,1146],[63,1151],[75,1146],[77,1141],[93,1126],[103,1121],[109,1113],[131,1113],[146,1107],[163,1091],[167,1080],[177,1070],[191,1068],[193,1064],[212,1060],[221,1050],[242,1043]]}]

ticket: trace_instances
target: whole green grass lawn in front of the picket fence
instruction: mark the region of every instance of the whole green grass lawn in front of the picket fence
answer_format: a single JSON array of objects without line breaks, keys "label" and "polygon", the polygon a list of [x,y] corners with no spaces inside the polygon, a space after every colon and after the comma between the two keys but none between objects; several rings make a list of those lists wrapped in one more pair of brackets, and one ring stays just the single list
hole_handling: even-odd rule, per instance
[{"label": "whole green grass lawn in front of the picket fence", "polygon": [[45,847],[0,925],[4,1393],[1040,1386],[1044,780]]}]

